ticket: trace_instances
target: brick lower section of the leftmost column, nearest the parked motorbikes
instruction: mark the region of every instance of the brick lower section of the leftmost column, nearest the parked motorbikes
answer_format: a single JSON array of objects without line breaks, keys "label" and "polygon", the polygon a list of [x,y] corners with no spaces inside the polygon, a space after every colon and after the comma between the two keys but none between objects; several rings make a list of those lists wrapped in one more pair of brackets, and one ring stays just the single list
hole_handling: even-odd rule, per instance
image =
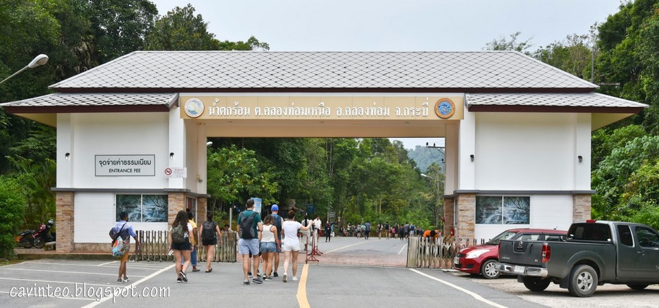
[{"label": "brick lower section of the leftmost column, nearest the parked motorbikes", "polygon": [[73,196],[73,191],[55,193],[56,249],[60,252],[73,251]]}]

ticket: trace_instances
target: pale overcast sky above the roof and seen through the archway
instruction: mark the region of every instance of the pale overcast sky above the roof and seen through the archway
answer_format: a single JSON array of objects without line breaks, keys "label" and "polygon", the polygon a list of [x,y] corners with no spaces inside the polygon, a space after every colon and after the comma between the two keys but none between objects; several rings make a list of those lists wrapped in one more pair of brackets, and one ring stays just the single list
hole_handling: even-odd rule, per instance
[{"label": "pale overcast sky above the roof and seen through the archway", "polygon": [[[588,34],[620,0],[151,0],[192,4],[219,40],[255,36],[270,51],[479,51],[521,32],[531,48]],[[440,139],[400,139],[406,148]]]}]

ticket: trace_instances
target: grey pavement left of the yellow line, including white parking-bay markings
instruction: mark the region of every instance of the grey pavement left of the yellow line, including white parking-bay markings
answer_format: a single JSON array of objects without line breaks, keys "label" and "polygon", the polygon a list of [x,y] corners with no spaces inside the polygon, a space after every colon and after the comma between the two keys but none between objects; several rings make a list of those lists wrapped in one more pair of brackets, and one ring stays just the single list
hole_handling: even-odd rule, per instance
[{"label": "grey pavement left of the yellow line, including white parking-bay markings", "polygon": [[242,307],[245,298],[252,301],[250,306],[262,305],[264,292],[273,294],[275,307],[298,305],[298,283],[291,276],[288,283],[279,276],[245,286],[242,263],[213,263],[209,273],[205,263],[198,265],[200,272],[188,269],[187,283],[176,283],[172,262],[128,262],[128,283],[117,283],[119,261],[39,259],[0,266],[0,307]]}]

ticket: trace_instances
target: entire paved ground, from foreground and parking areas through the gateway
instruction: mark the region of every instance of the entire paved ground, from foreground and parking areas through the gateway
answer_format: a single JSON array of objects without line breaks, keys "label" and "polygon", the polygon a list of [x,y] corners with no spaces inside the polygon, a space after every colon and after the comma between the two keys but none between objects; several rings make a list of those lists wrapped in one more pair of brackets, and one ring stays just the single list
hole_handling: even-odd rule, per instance
[{"label": "entire paved ground, from foreground and parking areas through the gateway", "polygon": [[300,258],[299,281],[289,270],[287,283],[262,285],[242,285],[241,262],[213,263],[210,273],[200,263],[187,283],[176,283],[173,263],[129,262],[130,281],[116,283],[118,261],[25,261],[0,267],[0,307],[659,307],[658,285],[604,285],[574,298],[555,285],[529,292],[513,278],[381,266],[404,261],[405,241],[339,237],[319,250],[319,262]]}]

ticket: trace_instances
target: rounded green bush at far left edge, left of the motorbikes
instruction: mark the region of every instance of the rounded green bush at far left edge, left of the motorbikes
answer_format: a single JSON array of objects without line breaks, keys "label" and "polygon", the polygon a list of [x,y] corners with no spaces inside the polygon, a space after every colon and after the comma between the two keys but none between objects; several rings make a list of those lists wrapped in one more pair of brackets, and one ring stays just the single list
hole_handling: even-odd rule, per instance
[{"label": "rounded green bush at far left edge, left of the motorbikes", "polygon": [[0,258],[14,256],[16,233],[23,224],[27,200],[14,178],[0,176]]}]

